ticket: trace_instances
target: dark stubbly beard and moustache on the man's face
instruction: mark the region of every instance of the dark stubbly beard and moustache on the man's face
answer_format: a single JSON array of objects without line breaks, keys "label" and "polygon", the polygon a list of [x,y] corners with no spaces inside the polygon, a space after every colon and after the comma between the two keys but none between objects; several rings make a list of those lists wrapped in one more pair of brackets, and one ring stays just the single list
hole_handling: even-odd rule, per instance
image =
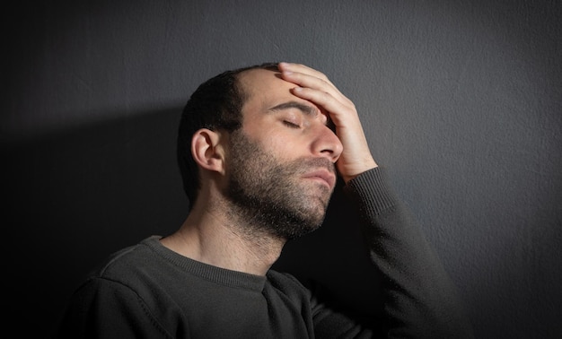
[{"label": "dark stubbly beard and moustache on the man's face", "polygon": [[241,130],[233,132],[225,196],[236,217],[248,225],[248,235],[265,233],[295,239],[321,227],[332,189],[303,179],[312,170],[335,173],[326,158],[278,161]]}]

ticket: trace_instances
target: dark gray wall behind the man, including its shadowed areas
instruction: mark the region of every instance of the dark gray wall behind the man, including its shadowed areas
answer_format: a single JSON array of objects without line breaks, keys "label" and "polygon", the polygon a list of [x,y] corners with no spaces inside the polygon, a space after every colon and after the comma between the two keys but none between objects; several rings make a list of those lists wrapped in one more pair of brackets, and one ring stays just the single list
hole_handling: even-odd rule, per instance
[{"label": "dark gray wall behind the man, including its shadowed areas", "polygon": [[[186,200],[173,146],[189,93],[225,69],[286,60],[356,102],[479,338],[562,335],[561,7],[20,2],[4,11],[0,94],[8,311],[22,333],[49,333],[93,265],[177,228]],[[334,196],[325,227],[277,266],[376,315],[377,275],[362,271],[346,208]]]}]

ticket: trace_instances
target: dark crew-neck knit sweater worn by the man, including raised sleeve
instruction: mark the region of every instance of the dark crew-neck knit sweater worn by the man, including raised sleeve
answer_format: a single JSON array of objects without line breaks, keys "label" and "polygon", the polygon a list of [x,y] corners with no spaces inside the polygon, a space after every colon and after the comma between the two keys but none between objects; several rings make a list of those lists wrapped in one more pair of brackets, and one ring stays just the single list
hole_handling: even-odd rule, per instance
[{"label": "dark crew-neck knit sweater worn by the man, including raised sleeve", "polygon": [[322,305],[290,274],[206,265],[164,248],[154,236],[110,256],[75,291],[59,337],[471,337],[447,274],[382,170],[362,174],[345,190],[384,275],[387,321],[379,328]]}]

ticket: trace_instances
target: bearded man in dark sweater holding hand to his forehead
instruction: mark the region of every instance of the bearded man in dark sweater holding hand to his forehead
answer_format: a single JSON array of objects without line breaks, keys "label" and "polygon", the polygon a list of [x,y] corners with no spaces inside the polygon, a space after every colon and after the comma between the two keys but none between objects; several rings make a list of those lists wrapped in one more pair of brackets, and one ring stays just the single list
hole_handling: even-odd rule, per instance
[{"label": "bearded man in dark sweater holding hand to his forehead", "polygon": [[[110,257],[75,292],[61,337],[470,336],[452,286],[387,188],[354,104],[304,65],[219,74],[189,99],[178,158],[190,212],[170,236]],[[321,304],[270,270],[320,227],[338,175],[384,275],[382,323]]]}]

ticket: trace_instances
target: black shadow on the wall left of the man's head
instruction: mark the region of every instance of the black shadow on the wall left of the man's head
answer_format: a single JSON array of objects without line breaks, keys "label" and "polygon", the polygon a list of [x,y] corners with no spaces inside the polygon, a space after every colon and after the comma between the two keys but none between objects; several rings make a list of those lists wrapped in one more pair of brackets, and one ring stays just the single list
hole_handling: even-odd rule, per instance
[{"label": "black shadow on the wall left of the man's head", "polygon": [[44,337],[70,293],[110,252],[182,222],[187,200],[175,167],[180,111],[4,147],[10,221],[4,227],[8,269],[16,277],[8,291],[18,296],[13,317],[33,323],[27,331]]}]

